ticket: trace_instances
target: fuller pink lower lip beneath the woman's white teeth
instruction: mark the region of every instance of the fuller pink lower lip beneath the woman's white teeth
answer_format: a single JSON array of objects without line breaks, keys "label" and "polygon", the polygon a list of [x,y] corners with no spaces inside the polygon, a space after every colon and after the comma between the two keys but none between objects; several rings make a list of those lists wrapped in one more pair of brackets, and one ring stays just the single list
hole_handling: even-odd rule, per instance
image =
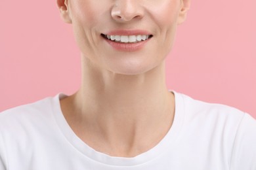
[{"label": "fuller pink lower lip beneath the woman's white teeth", "polygon": [[146,41],[140,41],[140,42],[136,42],[136,43],[121,43],[121,42],[111,41],[111,40],[105,39],[105,38],[103,38],[103,39],[106,40],[106,42],[108,42],[108,44],[110,44],[110,46],[112,46],[116,50],[125,51],[125,52],[134,52],[134,51],[137,51],[137,50],[141,50],[144,47],[144,45],[151,38],[147,39]]}]

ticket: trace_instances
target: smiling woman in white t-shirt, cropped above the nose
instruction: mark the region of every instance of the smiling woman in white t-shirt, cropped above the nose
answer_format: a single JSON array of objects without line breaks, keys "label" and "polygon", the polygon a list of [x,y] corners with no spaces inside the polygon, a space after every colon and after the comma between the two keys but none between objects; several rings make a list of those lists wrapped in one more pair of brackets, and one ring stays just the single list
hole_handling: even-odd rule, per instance
[{"label": "smiling woman in white t-shirt, cropped above the nose", "polygon": [[0,114],[0,169],[256,169],[256,122],[168,90],[190,0],[57,0],[82,84]]}]

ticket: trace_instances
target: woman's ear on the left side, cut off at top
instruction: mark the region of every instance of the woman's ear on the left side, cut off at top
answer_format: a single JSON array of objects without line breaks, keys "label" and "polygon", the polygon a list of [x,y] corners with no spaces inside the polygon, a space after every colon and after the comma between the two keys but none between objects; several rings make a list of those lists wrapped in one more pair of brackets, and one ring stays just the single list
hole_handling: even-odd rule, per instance
[{"label": "woman's ear on the left side, cut off at top", "polygon": [[58,9],[60,10],[60,17],[68,24],[72,24],[70,17],[70,10],[68,6],[68,0],[57,0]]}]

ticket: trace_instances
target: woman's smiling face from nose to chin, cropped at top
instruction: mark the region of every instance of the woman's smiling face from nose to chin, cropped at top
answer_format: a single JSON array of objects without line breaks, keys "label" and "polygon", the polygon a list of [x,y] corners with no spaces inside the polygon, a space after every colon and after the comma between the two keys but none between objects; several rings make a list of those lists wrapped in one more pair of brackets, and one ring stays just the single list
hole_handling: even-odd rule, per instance
[{"label": "woman's smiling face from nose to chin, cropped at top", "polygon": [[182,1],[68,0],[66,6],[83,58],[100,70],[137,75],[170,52]]}]

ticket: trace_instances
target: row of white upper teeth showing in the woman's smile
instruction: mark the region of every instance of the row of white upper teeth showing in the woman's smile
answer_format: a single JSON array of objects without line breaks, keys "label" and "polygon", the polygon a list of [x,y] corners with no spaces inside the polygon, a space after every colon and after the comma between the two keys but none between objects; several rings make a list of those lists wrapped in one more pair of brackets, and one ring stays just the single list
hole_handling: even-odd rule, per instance
[{"label": "row of white upper teeth showing in the woman's smile", "polygon": [[105,35],[106,38],[117,42],[140,42],[146,41],[150,35]]}]

